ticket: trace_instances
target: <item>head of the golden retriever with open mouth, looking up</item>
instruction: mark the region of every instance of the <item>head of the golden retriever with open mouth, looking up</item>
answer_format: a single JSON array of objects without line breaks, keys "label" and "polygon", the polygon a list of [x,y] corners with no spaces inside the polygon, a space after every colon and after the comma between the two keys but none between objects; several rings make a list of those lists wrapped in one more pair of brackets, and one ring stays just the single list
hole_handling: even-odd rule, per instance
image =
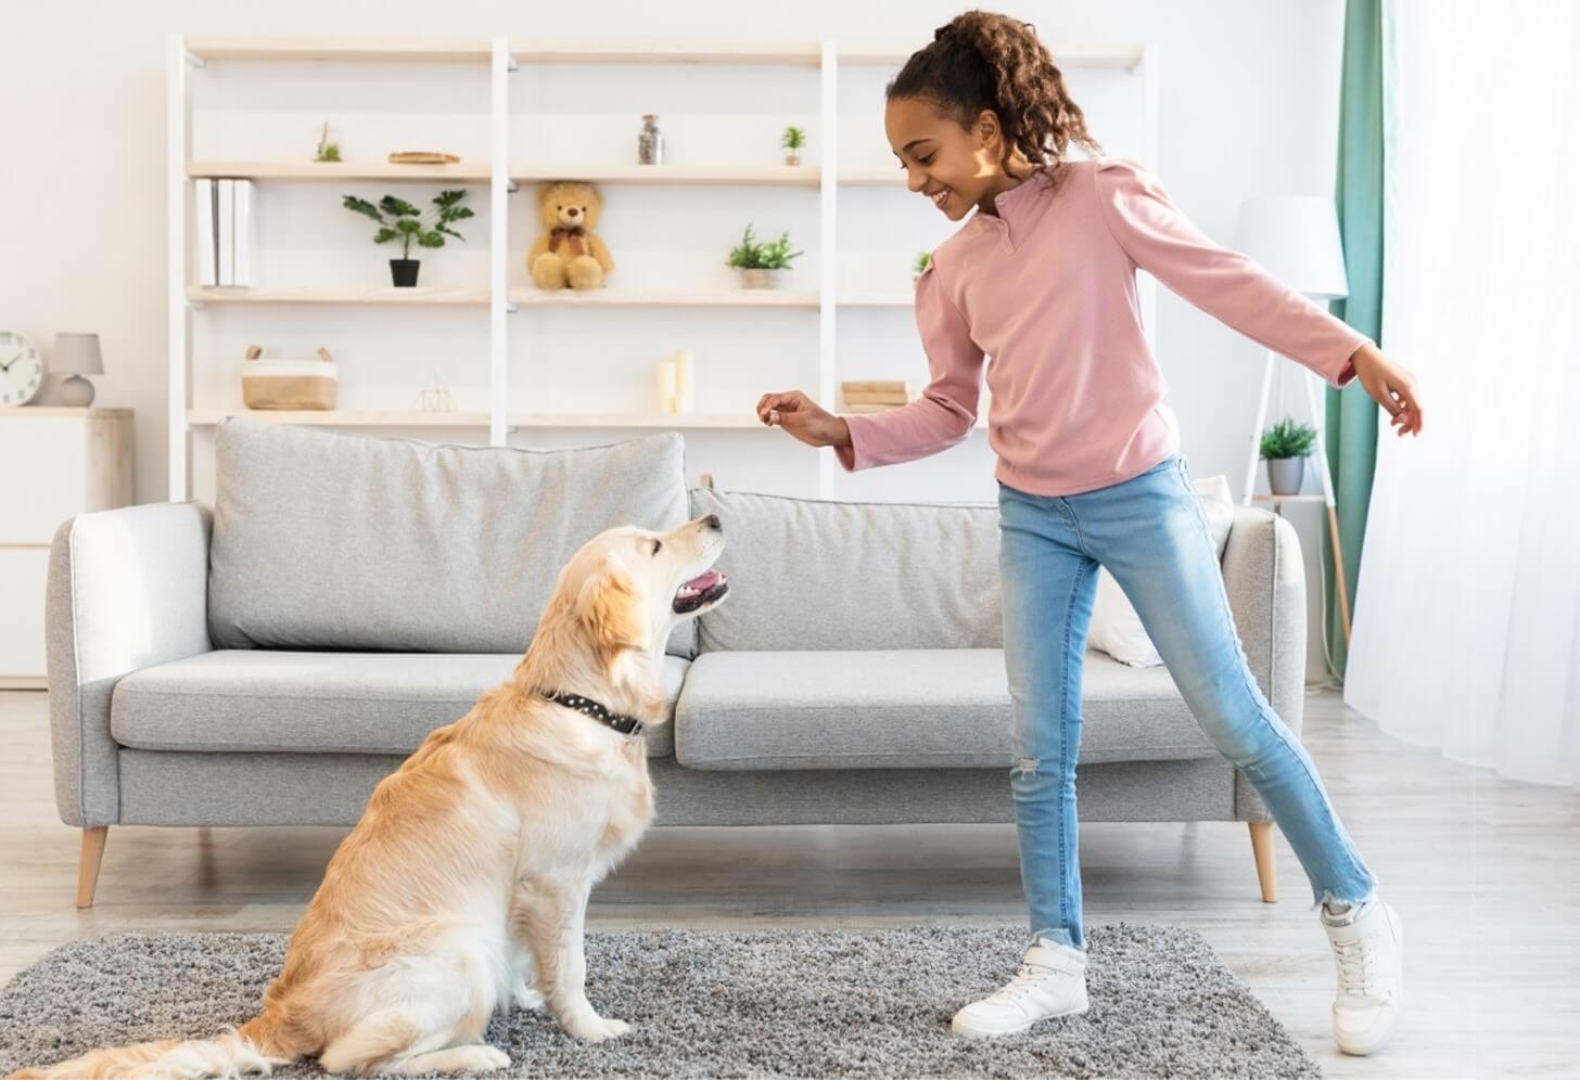
[{"label": "head of the golden retriever with open mouth, looking up", "polygon": [[619,526],[588,540],[570,557],[559,589],[574,597],[605,671],[629,651],[653,652],[670,630],[717,606],[730,581],[713,568],[724,551],[719,515],[668,532]]}]

